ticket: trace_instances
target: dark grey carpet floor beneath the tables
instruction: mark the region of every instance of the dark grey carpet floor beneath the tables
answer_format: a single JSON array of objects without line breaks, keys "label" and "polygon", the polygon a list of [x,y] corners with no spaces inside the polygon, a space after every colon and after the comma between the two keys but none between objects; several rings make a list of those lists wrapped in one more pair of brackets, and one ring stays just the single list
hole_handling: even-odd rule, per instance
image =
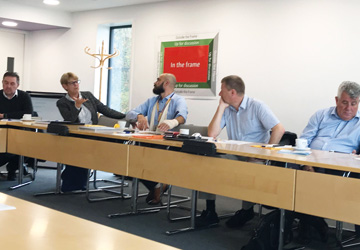
[{"label": "dark grey carpet floor beneath the tables", "polygon": [[[54,166],[54,163],[46,162],[42,163],[42,165]],[[49,192],[54,190],[55,174],[56,171],[53,169],[40,168],[37,172],[36,180],[33,183],[16,190],[9,190],[9,187],[16,184],[16,181],[10,182],[2,178],[2,180],[0,180],[0,192],[180,249],[239,250],[249,241],[253,229],[259,221],[258,218],[255,218],[241,229],[234,230],[228,229],[225,226],[226,219],[224,219],[221,220],[219,226],[217,227],[168,236],[165,233],[167,230],[188,227],[190,225],[190,221],[185,220],[169,222],[165,209],[158,213],[151,214],[124,216],[113,219],[108,217],[109,214],[130,211],[131,201],[129,199],[88,202],[85,194],[34,196],[36,193]],[[98,178],[112,180],[118,179],[113,174],[105,172],[99,172]],[[127,182],[129,182],[131,186],[131,181]],[[125,192],[129,193],[130,188],[125,188]],[[146,192],[146,189],[142,184],[140,184],[140,193]],[[190,196],[191,191],[179,187],[174,187],[173,193]],[[104,195],[108,194],[101,192],[92,194],[92,197],[103,197]],[[190,207],[190,202],[186,202],[183,205]],[[145,203],[144,197],[139,198],[138,206],[139,208],[150,207]],[[198,209],[201,211],[204,206],[205,202],[199,200]],[[240,207],[241,201],[239,200],[234,200],[227,197],[218,197],[216,201],[216,209],[218,214],[233,213],[234,211],[240,209]],[[264,212],[266,212],[266,210]],[[172,216],[174,217],[185,216],[188,214],[189,212],[187,210],[178,208],[172,210]],[[333,222],[329,223],[331,224]],[[350,233],[345,232],[344,237],[347,237],[349,234]],[[299,246],[296,244],[296,231],[294,235],[295,240],[293,243],[286,246],[287,249]],[[306,246],[305,249],[339,249],[336,247],[334,235],[335,231],[333,229],[330,230],[330,239],[326,244],[317,240],[317,236],[315,235],[314,239],[309,245]],[[121,247],[119,247],[119,249],[121,249]]]}]

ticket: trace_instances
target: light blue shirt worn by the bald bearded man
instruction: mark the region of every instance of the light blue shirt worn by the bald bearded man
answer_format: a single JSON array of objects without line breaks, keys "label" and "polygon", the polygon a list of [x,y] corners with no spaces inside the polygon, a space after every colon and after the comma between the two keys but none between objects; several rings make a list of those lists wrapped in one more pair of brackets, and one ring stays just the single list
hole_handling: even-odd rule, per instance
[{"label": "light blue shirt worn by the bald bearded man", "polygon": [[155,126],[158,125],[159,113],[164,109],[165,104],[170,97],[171,97],[171,101],[169,103],[170,106],[167,112],[167,117],[166,117],[167,120],[172,120],[178,116],[182,116],[186,121],[188,111],[187,111],[187,105],[185,99],[184,97],[177,95],[174,92],[166,96],[162,100],[160,100],[160,96],[154,96],[147,99],[146,102],[139,105],[135,109],[129,111],[126,114],[126,120],[137,120],[138,114],[142,114],[144,116],[147,116],[147,119],[150,122],[153,108],[156,105],[156,102],[159,100],[159,112],[155,112],[155,119],[154,119],[154,125]]}]

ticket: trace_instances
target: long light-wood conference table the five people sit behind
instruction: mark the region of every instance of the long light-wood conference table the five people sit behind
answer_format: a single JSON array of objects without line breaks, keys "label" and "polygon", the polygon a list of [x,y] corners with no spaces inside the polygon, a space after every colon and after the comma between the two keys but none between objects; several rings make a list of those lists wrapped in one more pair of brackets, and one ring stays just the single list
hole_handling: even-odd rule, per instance
[{"label": "long light-wood conference table the five people sit behind", "polygon": [[[360,224],[358,179],[188,154],[178,150],[182,146],[179,141],[80,130],[73,125],[69,126],[69,136],[36,133],[35,129],[46,130],[46,125],[36,123],[7,122],[0,125],[0,139],[3,140],[3,134],[7,134],[6,151],[9,153]],[[137,145],[125,143],[129,141]],[[216,143],[219,154],[360,173],[359,156],[356,155],[320,150],[311,150],[307,156],[281,154],[253,145]],[[159,146],[174,150],[164,150]]]}]

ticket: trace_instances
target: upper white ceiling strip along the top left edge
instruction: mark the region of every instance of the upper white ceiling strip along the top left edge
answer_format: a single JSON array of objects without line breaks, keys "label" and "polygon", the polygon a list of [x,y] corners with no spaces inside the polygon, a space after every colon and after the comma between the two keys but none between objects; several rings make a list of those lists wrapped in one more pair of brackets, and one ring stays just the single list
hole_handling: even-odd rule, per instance
[{"label": "upper white ceiling strip along the top left edge", "polygon": [[78,12],[96,9],[113,8],[120,6],[165,2],[168,0],[59,0],[60,4],[57,6],[50,6],[43,4],[43,0],[5,0],[11,3],[20,5],[27,5],[36,8]]}]

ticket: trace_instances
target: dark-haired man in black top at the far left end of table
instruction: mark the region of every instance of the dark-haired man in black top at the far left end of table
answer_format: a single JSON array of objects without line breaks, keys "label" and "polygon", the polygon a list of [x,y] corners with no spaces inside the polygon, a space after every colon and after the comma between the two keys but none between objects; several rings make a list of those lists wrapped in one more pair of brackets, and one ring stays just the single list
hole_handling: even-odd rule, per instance
[{"label": "dark-haired man in black top at the far left end of table", "polygon": [[[30,95],[18,90],[20,77],[15,72],[6,72],[3,76],[3,89],[0,90],[0,119],[21,119],[24,114],[32,114]],[[0,166],[7,164],[8,180],[15,180],[19,156],[1,153]]]}]

